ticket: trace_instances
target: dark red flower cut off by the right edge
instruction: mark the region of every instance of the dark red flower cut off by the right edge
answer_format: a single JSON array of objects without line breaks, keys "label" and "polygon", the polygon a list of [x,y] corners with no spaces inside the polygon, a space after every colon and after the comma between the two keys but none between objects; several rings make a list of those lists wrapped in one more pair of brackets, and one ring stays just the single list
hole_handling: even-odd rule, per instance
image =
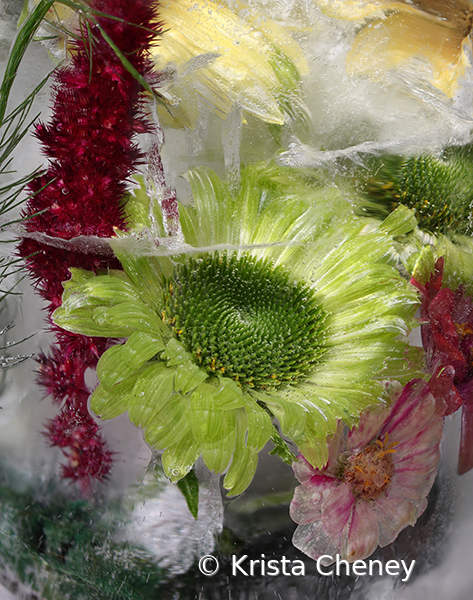
[{"label": "dark red flower cut off by the right edge", "polygon": [[473,468],[473,299],[462,285],[456,290],[442,287],[443,268],[444,259],[439,258],[425,285],[415,279],[412,284],[421,294],[422,343],[427,368],[443,385],[445,414],[463,407],[458,460],[462,474]]}]

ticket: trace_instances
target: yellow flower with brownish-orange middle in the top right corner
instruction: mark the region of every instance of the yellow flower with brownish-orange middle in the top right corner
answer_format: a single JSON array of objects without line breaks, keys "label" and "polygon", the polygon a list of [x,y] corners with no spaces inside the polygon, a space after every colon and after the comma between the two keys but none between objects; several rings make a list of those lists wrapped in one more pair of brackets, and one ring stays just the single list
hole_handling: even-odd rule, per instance
[{"label": "yellow flower with brownish-orange middle in the top right corner", "polygon": [[469,64],[473,3],[470,0],[317,0],[329,16],[368,19],[347,58],[350,74],[381,79],[408,67],[447,96]]}]

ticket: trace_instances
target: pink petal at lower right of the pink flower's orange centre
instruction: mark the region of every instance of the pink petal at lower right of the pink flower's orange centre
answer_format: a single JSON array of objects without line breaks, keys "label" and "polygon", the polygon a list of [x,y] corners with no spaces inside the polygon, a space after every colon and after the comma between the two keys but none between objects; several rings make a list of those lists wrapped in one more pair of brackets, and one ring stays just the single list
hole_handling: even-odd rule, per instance
[{"label": "pink petal at lower right of the pink flower's orange centre", "polygon": [[381,547],[393,542],[403,529],[414,525],[417,520],[416,507],[407,500],[389,498],[383,494],[373,503],[373,508],[378,516]]}]

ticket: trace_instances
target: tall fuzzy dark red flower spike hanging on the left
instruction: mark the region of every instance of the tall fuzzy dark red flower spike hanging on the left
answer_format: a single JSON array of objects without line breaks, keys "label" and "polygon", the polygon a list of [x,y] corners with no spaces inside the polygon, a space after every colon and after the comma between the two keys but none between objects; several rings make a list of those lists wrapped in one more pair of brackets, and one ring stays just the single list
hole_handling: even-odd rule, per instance
[{"label": "tall fuzzy dark red flower spike hanging on the left", "polygon": [[[143,89],[107,37],[141,76],[156,80],[148,55],[159,32],[156,3],[89,4],[69,64],[54,75],[52,118],[36,126],[49,163],[29,186],[26,232],[18,247],[50,314],[61,304],[71,267],[120,268],[107,247],[78,248],[67,240],[111,237],[115,228],[126,229],[128,178],[143,161],[136,142],[137,134],[149,130]],[[111,467],[112,454],[88,412],[85,383],[87,368],[96,366],[110,342],[53,330],[57,342],[38,359],[39,382],[63,407],[47,436],[68,458],[63,475],[87,487]]]}]

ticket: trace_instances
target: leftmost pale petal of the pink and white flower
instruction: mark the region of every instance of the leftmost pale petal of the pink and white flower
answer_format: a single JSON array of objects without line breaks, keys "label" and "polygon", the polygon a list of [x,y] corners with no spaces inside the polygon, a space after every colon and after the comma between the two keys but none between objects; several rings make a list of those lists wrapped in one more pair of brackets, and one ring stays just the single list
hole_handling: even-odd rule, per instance
[{"label": "leftmost pale petal of the pink and white flower", "polygon": [[313,477],[315,481],[308,481],[296,487],[291,502],[291,518],[296,523],[311,523],[320,519],[322,503],[330,491],[337,489],[338,479],[331,477]]}]

